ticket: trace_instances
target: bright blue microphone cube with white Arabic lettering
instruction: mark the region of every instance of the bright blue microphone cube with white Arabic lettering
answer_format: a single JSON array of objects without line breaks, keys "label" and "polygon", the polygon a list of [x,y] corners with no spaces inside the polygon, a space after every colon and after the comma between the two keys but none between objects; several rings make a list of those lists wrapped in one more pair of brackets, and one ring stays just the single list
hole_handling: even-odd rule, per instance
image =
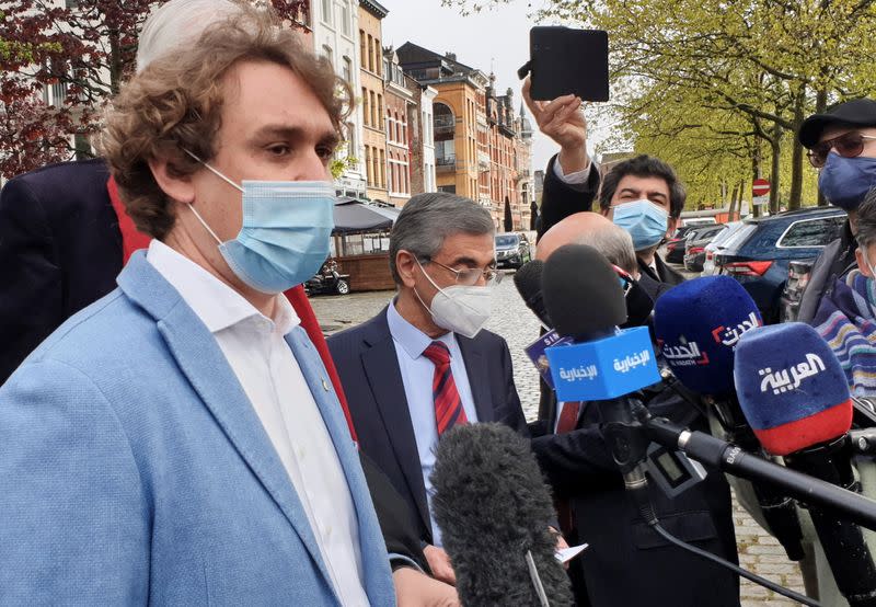
[{"label": "bright blue microphone cube with white Arabic lettering", "polygon": [[560,401],[608,400],[660,381],[647,327],[546,348]]}]

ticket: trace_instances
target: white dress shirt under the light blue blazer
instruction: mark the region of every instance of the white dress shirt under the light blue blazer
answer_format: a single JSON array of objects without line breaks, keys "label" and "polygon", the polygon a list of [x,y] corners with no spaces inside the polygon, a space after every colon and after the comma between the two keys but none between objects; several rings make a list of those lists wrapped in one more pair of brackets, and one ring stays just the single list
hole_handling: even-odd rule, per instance
[{"label": "white dress shirt under the light blue blazer", "polygon": [[284,335],[300,320],[283,295],[268,319],[234,289],[159,240],[146,257],[214,334],[301,500],[335,592],[367,606],[359,527],[332,437]]}]

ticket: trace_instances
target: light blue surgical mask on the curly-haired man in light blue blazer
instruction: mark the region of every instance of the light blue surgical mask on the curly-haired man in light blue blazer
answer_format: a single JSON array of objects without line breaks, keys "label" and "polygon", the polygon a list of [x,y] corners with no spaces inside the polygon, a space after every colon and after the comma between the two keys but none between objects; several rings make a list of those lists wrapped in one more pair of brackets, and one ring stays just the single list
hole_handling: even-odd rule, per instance
[{"label": "light blue surgical mask on the curly-haired man in light blue blazer", "polygon": [[300,285],[320,270],[328,256],[334,229],[335,193],[331,183],[247,180],[241,186],[208,163],[203,164],[243,193],[243,225],[237,238],[227,242],[219,240],[195,205],[186,205],[216,239],[238,278],[255,290],[277,294]]}]

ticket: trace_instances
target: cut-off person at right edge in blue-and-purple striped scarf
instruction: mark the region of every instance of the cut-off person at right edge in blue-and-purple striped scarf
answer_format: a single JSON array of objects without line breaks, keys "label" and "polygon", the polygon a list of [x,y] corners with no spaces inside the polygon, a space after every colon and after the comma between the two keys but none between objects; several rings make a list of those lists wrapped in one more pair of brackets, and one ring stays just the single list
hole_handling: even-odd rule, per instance
[{"label": "cut-off person at right edge in blue-and-purple striped scarf", "polygon": [[857,267],[833,280],[812,325],[842,363],[852,393],[876,397],[876,190],[854,213]]}]

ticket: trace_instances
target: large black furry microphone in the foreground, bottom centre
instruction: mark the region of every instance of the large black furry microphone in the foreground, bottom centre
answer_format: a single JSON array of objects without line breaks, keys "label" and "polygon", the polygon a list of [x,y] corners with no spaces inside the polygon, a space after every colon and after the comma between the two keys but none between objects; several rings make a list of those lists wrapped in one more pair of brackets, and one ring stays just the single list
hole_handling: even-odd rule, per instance
[{"label": "large black furry microphone in the foreground, bottom centre", "polygon": [[466,607],[542,605],[532,554],[551,606],[574,605],[554,557],[551,495],[529,443],[502,424],[458,425],[441,436],[433,511]]}]

